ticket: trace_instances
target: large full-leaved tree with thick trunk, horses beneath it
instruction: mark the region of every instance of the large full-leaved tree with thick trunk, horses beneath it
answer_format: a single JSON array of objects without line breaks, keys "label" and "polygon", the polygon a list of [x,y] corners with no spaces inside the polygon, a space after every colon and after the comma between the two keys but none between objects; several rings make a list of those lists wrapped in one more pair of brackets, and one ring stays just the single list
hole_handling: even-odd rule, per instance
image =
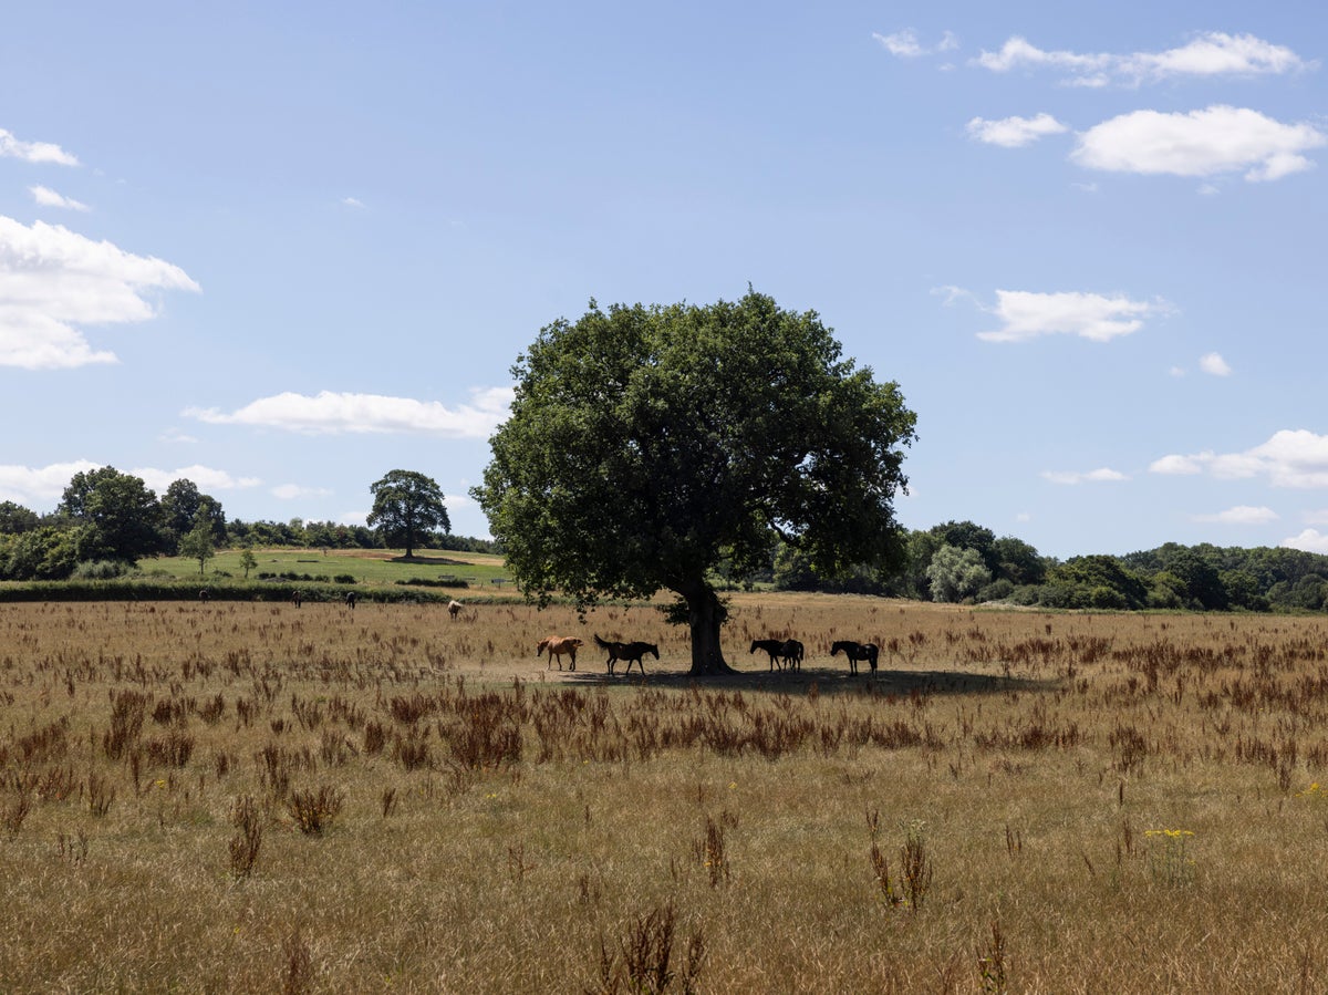
[{"label": "large full-leaved tree with thick trunk, horses beneath it", "polygon": [[710,571],[774,541],[821,575],[902,557],[894,517],[915,416],[841,357],[815,312],[614,306],[540,329],[473,494],[527,596],[582,606],[669,590],[692,672],[728,670]]}]

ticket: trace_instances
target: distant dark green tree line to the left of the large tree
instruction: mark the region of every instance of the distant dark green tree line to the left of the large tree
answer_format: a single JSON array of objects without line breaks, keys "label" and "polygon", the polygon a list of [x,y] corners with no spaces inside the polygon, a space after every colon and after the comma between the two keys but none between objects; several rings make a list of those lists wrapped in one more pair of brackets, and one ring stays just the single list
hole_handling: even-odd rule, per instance
[{"label": "distant dark green tree line to the left of the large tree", "polygon": [[[393,470],[378,485],[404,473]],[[426,477],[422,480],[432,484]],[[433,514],[424,514],[422,521],[445,527],[412,529],[412,545],[465,553],[494,551],[486,539],[449,531],[436,485],[426,489],[422,498],[412,492],[404,506],[389,503],[378,509],[376,503],[381,511],[376,529],[300,518],[246,522],[227,521],[222,502],[202,493],[193,481],[178,480],[158,498],[141,478],[104,466],[76,473],[49,514],[37,514],[13,501],[0,502],[0,581],[117,577],[139,559],[155,555],[187,555],[203,565],[219,549],[386,549],[401,535],[402,513],[409,511],[406,517],[412,522],[420,518],[420,509],[409,503],[414,499],[436,501]]]}]

